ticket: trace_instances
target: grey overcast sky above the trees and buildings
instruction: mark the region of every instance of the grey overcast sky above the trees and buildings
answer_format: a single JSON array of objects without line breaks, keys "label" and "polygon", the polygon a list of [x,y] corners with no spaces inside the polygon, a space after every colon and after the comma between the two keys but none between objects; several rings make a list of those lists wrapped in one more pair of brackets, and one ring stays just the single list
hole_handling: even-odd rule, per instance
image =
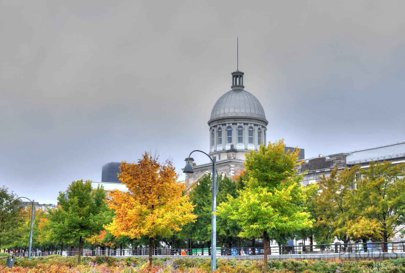
[{"label": "grey overcast sky above the trees and buildings", "polygon": [[394,0],[3,0],[0,186],[56,203],[155,150],[181,172],[209,150],[238,36],[268,141],[306,158],[402,142],[404,15]]}]

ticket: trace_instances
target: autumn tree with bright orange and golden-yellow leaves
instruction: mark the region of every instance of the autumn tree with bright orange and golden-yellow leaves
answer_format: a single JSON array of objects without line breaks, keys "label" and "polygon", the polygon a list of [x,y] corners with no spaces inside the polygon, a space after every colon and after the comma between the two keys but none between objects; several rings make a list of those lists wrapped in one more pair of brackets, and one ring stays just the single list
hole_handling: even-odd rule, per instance
[{"label": "autumn tree with bright orange and golden-yellow leaves", "polygon": [[115,216],[105,228],[115,237],[149,237],[151,266],[153,238],[173,235],[180,226],[195,222],[194,205],[183,196],[185,184],[177,182],[171,161],[160,164],[158,157],[145,152],[137,164],[123,161],[119,169],[118,178],[130,192],[109,193],[109,207]]}]

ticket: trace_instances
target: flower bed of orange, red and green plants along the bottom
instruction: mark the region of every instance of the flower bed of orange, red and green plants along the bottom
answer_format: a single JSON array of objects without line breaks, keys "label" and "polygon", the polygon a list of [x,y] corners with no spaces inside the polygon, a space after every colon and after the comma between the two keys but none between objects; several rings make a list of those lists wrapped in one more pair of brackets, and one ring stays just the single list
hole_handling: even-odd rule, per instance
[{"label": "flower bed of orange, red and green plants along the bottom", "polygon": [[[107,256],[85,257],[77,265],[77,257],[16,258],[15,266],[8,268],[1,259],[0,273],[208,273],[211,270],[209,258],[153,258],[149,268],[147,257],[123,259]],[[269,260],[271,273],[405,273],[405,258],[384,262],[328,262],[326,260]],[[262,260],[217,260],[218,273],[261,273]]]}]

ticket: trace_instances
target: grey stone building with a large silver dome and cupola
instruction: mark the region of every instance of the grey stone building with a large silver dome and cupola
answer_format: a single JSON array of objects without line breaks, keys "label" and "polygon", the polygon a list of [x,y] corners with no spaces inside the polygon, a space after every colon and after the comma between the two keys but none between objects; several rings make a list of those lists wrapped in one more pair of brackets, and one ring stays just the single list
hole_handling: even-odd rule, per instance
[{"label": "grey stone building with a large silver dome and cupola", "polygon": [[[209,155],[217,160],[218,174],[232,177],[245,169],[245,153],[258,150],[266,142],[267,124],[262,104],[244,90],[243,72],[232,72],[231,90],[222,95],[211,111],[209,125]],[[211,173],[212,163],[193,164],[194,173],[185,174],[188,188]]]}]

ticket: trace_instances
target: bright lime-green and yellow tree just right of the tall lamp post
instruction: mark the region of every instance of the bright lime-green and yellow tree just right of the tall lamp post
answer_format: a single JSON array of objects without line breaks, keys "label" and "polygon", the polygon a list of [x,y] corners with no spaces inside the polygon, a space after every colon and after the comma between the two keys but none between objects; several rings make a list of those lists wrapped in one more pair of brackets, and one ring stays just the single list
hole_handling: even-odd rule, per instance
[{"label": "bright lime-green and yellow tree just right of the tall lamp post", "polygon": [[309,213],[301,206],[305,201],[302,176],[295,175],[298,152],[285,152],[284,141],[279,140],[247,153],[249,181],[238,191],[238,197],[228,195],[228,202],[221,203],[217,210],[219,216],[237,220],[241,225],[239,237],[263,237],[265,271],[269,235],[290,234],[312,226]]}]

